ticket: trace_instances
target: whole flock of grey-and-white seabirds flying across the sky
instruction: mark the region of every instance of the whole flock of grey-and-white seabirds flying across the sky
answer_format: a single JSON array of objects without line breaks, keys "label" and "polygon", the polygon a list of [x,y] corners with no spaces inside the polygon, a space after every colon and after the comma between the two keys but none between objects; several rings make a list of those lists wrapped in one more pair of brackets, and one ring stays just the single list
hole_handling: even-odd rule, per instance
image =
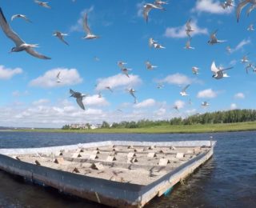
[{"label": "whole flock of grey-and-white seabirds flying across the sky", "polygon": [[[74,2],[74,0],[72,0]],[[38,0],[34,0],[34,3],[37,3],[38,6],[42,6],[45,7],[46,9],[50,9],[51,7],[49,6],[48,2],[40,2]],[[166,6],[168,4],[167,1],[161,1],[161,0],[154,0],[153,3],[146,3],[143,6],[143,18],[145,19],[146,22],[148,22],[149,19],[149,14],[151,10],[162,10],[162,11],[166,11],[166,9],[164,8],[164,6]],[[238,3],[238,6],[236,8],[236,17],[237,17],[237,21],[239,21],[240,18],[240,14],[242,12],[242,9],[247,6],[248,4],[250,4],[249,9],[246,11],[246,14],[249,15],[250,12],[252,10],[254,10],[256,8],[256,0],[243,0],[242,2]],[[234,7],[234,0],[226,0],[225,2],[221,3],[221,6],[223,8],[223,10],[230,10],[231,7]],[[32,22],[30,21],[29,18],[26,17],[25,14],[14,14],[10,19],[11,21],[14,21],[14,19],[16,18],[22,18],[24,19],[26,22]],[[10,50],[10,52],[21,52],[21,51],[26,51],[26,53],[34,56],[35,58],[41,58],[41,59],[51,59],[49,57],[47,57],[46,55],[43,54],[39,54],[35,48],[38,47],[38,44],[30,44],[30,43],[26,43],[25,41],[22,40],[22,38],[20,38],[18,36],[17,33],[14,32],[14,30],[12,30],[12,28],[10,27],[9,23],[6,20],[5,15],[3,14],[2,8],[0,7],[0,26],[2,27],[2,31],[4,32],[4,34],[6,34],[6,36],[8,38],[10,38],[15,46]],[[86,35],[82,38],[85,38],[87,40],[90,39],[96,39],[96,38],[100,38],[98,35],[93,34],[92,31],[90,30],[90,27],[88,26],[88,22],[87,22],[87,13],[84,14],[83,17],[83,22],[82,22],[82,26],[83,29],[86,32]],[[251,24],[247,30],[254,30],[254,25]],[[186,35],[188,37],[187,41],[186,41],[186,46],[184,47],[186,50],[194,50],[193,46],[191,45],[191,33],[193,33],[195,31],[195,29],[191,26],[191,19],[189,19],[186,22]],[[210,34],[210,40],[208,41],[208,43],[210,45],[214,45],[214,44],[218,44],[218,43],[222,43],[222,42],[226,42],[225,40],[219,40],[217,38],[217,33],[218,30],[215,30],[212,34]],[[66,42],[65,37],[68,34],[63,34],[60,31],[54,31],[53,34],[55,37],[57,37],[58,39],[60,39],[63,43],[65,43],[66,45],[69,45],[68,42]],[[154,40],[153,38],[149,38],[149,46],[153,47],[154,49],[165,49],[165,46],[162,46],[162,44],[160,44],[158,41]],[[230,46],[226,47],[226,50],[228,53],[231,52]],[[97,57],[95,57],[95,60],[99,60]],[[241,59],[242,63],[247,64],[246,65],[246,73],[248,73],[248,71],[250,69],[252,69],[253,71],[256,72],[256,66],[254,66],[253,63],[251,63],[248,59],[248,54],[246,54],[245,56],[242,57]],[[127,68],[126,62],[122,62],[119,61],[118,66],[120,68],[120,70],[122,71],[123,74],[126,75],[127,78],[130,78],[130,71],[131,69]],[[150,63],[150,61],[146,61],[146,69],[147,70],[154,70],[155,68],[157,68],[158,66],[154,66]],[[215,79],[221,79],[221,78],[226,78],[229,77],[228,74],[226,74],[226,70],[230,70],[233,67],[227,67],[227,68],[222,68],[221,66],[216,66],[215,62],[212,62],[211,64],[211,71],[213,73],[212,77]],[[197,66],[193,66],[192,67],[192,73],[195,75],[199,74],[199,68]],[[58,74],[56,75],[56,82],[62,82],[62,78],[61,78],[61,72],[58,72]],[[162,83],[158,83],[157,88],[158,89],[162,89],[163,84]],[[181,91],[180,91],[180,95],[181,96],[188,96],[189,94],[187,94],[186,90],[190,87],[190,85],[185,86]],[[106,86],[105,87],[106,90],[110,90],[110,92],[113,92],[113,89],[111,88],[111,86]],[[138,100],[135,96],[135,92],[136,90],[134,90],[133,88],[130,89],[126,89],[127,92],[134,98],[134,103],[137,103]],[[87,96],[87,94],[82,94],[80,92],[74,91],[70,89],[70,97],[73,97],[76,99],[76,102],[78,103],[78,106],[80,106],[82,108],[82,110],[85,110],[85,106],[82,102],[82,99],[85,98]],[[102,98],[102,94],[101,92],[98,93],[98,98]],[[191,101],[189,102],[191,103]],[[209,106],[209,102],[202,102],[201,104],[202,106]],[[178,106],[174,106],[174,109],[178,110]]]}]

